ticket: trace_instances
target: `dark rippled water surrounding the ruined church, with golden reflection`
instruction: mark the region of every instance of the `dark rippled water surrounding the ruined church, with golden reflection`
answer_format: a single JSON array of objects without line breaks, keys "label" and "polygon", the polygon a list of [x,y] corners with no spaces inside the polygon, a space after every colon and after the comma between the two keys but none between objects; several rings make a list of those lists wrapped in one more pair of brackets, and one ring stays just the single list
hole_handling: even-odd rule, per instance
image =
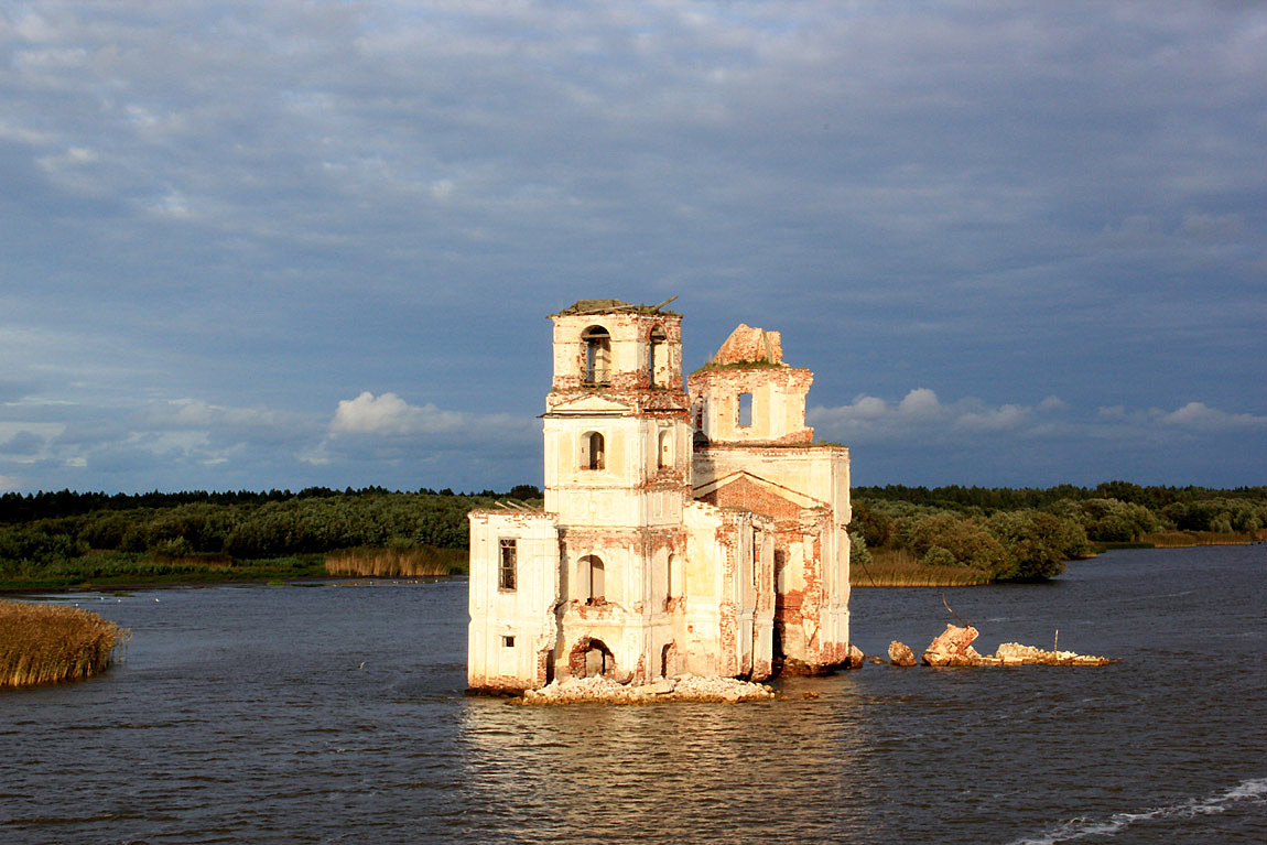
[{"label": "dark rippled water surrounding the ruined church, with golden reflection", "polygon": [[[945,590],[982,651],[1059,628],[1111,666],[868,665],[737,706],[466,698],[460,580],[61,599],[134,639],[0,693],[0,842],[1263,842],[1264,564]],[[941,598],[855,590],[854,639],[920,649]]]}]

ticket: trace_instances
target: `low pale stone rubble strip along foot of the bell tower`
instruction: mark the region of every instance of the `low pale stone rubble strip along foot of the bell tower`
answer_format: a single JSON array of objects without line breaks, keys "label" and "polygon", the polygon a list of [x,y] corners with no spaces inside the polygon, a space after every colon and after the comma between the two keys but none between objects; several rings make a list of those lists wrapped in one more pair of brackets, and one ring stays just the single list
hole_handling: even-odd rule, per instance
[{"label": "low pale stone rubble strip along foot of the bell tower", "polygon": [[627,685],[611,678],[563,678],[541,689],[527,689],[517,699],[523,704],[571,704],[604,702],[608,704],[645,704],[650,702],[750,702],[774,698],[765,684],[734,678],[679,675],[661,678],[650,684]]}]

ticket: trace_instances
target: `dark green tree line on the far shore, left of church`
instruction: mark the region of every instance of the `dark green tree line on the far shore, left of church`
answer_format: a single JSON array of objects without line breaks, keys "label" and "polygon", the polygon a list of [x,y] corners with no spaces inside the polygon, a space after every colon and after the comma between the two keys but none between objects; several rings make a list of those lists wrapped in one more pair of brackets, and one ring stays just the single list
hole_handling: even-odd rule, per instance
[{"label": "dark green tree line on the far shore, left of church", "polygon": [[[466,514],[499,499],[532,500],[531,485],[508,493],[383,488],[299,493],[34,493],[0,497],[0,580],[38,579],[118,560],[220,559],[224,562],[319,555],[362,547],[464,549]],[[152,568],[151,568],[152,569]]]}]

